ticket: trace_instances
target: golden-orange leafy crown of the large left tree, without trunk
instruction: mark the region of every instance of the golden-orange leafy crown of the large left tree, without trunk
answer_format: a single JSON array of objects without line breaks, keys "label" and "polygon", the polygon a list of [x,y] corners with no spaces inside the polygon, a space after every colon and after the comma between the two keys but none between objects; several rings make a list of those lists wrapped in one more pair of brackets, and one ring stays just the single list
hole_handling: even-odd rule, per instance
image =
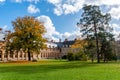
[{"label": "golden-orange leafy crown of the large left tree, without trunk", "polygon": [[[9,35],[9,39],[13,42],[18,42],[17,44],[20,44],[18,47],[25,49],[33,49],[39,46],[41,48],[46,47],[46,45],[43,44],[46,42],[46,39],[42,36],[45,33],[45,27],[37,19],[31,16],[19,17],[13,21],[12,24],[14,26],[14,32]],[[36,41],[36,43],[33,41]]]}]

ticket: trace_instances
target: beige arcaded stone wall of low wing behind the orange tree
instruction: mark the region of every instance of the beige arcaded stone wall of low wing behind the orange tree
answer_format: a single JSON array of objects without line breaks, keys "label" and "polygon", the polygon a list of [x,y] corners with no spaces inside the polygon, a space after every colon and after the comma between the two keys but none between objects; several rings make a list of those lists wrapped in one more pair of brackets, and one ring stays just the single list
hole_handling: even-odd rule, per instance
[{"label": "beige arcaded stone wall of low wing behind the orange tree", "polygon": [[[60,56],[60,50],[56,48],[52,49],[44,49],[41,50],[41,52],[35,53],[33,52],[31,54],[31,59],[56,59],[59,58]],[[28,54],[25,53],[24,51],[20,50],[18,53],[14,51],[12,54],[9,52],[6,54],[5,50],[1,50],[0,52],[0,61],[7,61],[7,60],[28,60]]]}]

